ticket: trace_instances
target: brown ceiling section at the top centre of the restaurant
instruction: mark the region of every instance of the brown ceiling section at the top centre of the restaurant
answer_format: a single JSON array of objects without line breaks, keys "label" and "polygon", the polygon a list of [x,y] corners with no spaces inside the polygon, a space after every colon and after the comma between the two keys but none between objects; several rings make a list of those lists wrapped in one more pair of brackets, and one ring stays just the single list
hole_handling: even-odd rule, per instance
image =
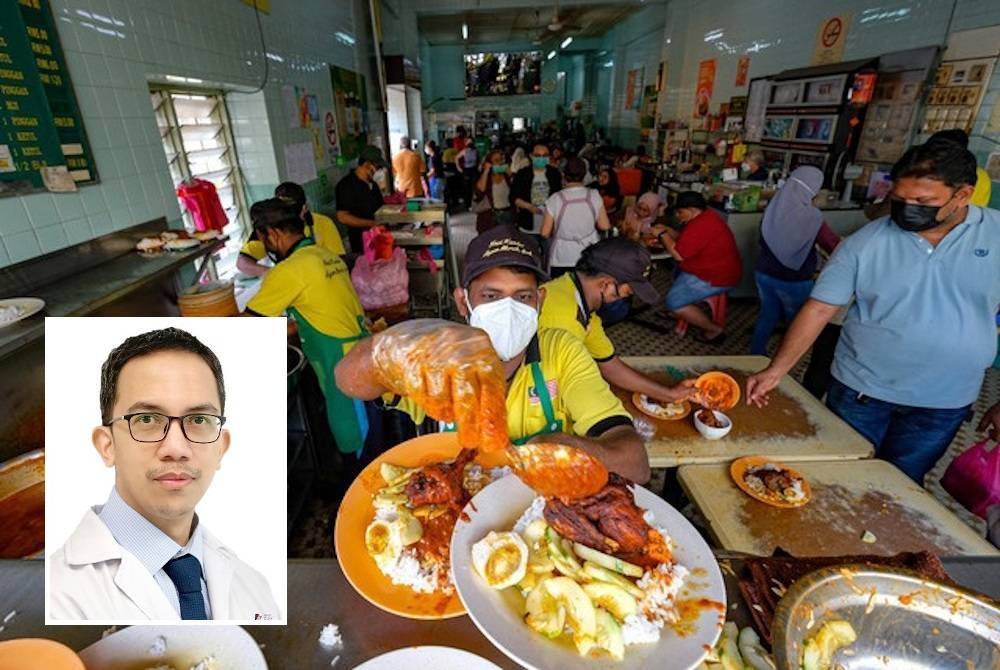
[{"label": "brown ceiling section at the top centre of the restaurant", "polygon": [[[567,36],[599,37],[620,21],[641,9],[632,3],[559,7],[562,26],[550,30],[555,6],[545,3],[539,8],[497,8],[487,11],[462,11],[449,15],[417,17],[420,36],[432,46],[461,44],[494,44],[505,42],[548,43]],[[462,39],[462,23],[469,25],[469,39]]]}]

